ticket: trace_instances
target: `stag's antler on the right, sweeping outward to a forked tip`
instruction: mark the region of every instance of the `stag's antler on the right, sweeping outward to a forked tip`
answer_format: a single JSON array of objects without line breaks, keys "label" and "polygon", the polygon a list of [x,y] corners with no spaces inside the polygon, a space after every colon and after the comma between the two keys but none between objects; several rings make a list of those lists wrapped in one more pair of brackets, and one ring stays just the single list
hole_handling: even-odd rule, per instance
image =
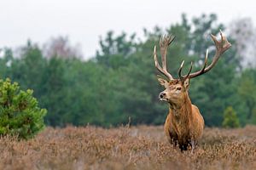
[{"label": "stag's antler on the right, sweeping outward to a forked tip", "polygon": [[[196,71],[194,73],[191,73],[191,70],[192,70],[192,63],[191,63],[191,66],[190,66],[190,69],[189,69],[189,73],[187,74],[186,77],[183,77],[181,75],[181,71],[183,69],[183,63],[180,65],[180,68],[178,69],[178,76],[180,77],[180,79],[183,81],[185,80],[186,78],[194,78],[194,77],[198,77],[204,73],[206,73],[207,71],[210,71],[212,69],[212,67],[214,65],[216,65],[219,57],[224,54],[224,52],[229,49],[231,47],[231,43],[227,40],[226,37],[224,37],[222,31],[220,30],[220,36],[221,36],[221,40],[217,40],[217,37],[213,36],[211,34],[211,37],[212,37],[212,40],[215,44],[215,47],[216,47],[216,52],[215,52],[215,55],[213,56],[213,59],[212,59],[212,63],[211,65],[208,65],[207,66],[207,59],[208,59],[208,49],[207,49],[207,53],[206,53],[206,57],[205,57],[205,62],[204,62],[204,65],[203,67],[201,68],[200,71]],[[183,61],[184,62],[184,61]]]}]

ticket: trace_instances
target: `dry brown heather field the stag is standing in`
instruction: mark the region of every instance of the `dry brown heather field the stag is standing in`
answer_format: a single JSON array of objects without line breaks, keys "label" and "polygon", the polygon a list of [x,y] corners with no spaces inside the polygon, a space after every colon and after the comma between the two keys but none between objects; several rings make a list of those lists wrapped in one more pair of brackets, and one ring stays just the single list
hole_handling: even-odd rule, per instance
[{"label": "dry brown heather field the stag is standing in", "polygon": [[35,139],[0,139],[0,169],[256,169],[256,127],[206,128],[193,154],[163,127],[47,127]]}]

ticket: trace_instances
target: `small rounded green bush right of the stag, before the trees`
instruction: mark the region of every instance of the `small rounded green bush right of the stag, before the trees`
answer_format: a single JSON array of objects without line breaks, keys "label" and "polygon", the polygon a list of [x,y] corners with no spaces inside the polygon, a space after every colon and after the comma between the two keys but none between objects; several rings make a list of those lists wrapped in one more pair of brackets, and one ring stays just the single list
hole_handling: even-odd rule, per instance
[{"label": "small rounded green bush right of the stag, before the trees", "polygon": [[224,111],[224,121],[222,122],[223,127],[240,127],[240,122],[236,116],[236,111],[229,106]]}]

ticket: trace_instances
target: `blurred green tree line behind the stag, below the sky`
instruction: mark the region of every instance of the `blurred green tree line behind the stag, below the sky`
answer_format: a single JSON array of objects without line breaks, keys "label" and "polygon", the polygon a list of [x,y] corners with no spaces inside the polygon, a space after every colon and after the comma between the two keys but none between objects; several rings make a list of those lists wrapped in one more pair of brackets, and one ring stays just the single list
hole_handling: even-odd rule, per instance
[{"label": "blurred green tree line behind the stag, below the sky", "polygon": [[[165,29],[144,29],[143,41],[136,34],[109,31],[100,38],[95,57],[86,61],[72,47],[67,48],[65,39],[58,42],[61,46],[51,43],[48,53],[31,41],[20,48],[18,57],[14,50],[4,48],[0,75],[19,82],[23,89],[33,89],[40,107],[48,110],[45,122],[49,126],[90,123],[109,127],[124,124],[129,117],[132,124],[163,124],[168,106],[158,99],[162,88],[156,80],[160,73],[154,68],[154,44],[166,33],[176,36],[167,61],[177,77],[183,59],[184,71],[190,61],[195,63],[192,71],[201,69],[207,48],[211,62],[215,49],[209,35],[225,30],[216,14],[192,20],[183,14],[181,18]],[[212,71],[191,80],[189,96],[207,126],[221,126],[224,111],[230,107],[242,125],[256,124],[256,68],[241,65],[237,40],[231,34],[227,37],[232,47]]]}]

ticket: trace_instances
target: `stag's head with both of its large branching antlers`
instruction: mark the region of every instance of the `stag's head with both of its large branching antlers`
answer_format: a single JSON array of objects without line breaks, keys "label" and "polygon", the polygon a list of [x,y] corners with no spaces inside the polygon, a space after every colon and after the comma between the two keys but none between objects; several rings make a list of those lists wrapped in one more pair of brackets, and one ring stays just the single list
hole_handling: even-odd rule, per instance
[{"label": "stag's head with both of its large branching antlers", "polygon": [[160,54],[161,54],[161,61],[162,61],[162,67],[159,65],[157,55],[156,55],[156,46],[154,46],[154,63],[155,67],[158,71],[160,71],[164,76],[166,76],[167,80],[158,77],[158,81],[160,82],[160,85],[164,86],[166,89],[159,94],[159,98],[162,101],[167,101],[168,103],[172,105],[182,105],[183,100],[187,99],[188,97],[188,90],[189,90],[189,80],[194,77],[198,77],[207,71],[210,71],[214,65],[216,65],[219,57],[221,54],[224,54],[224,52],[231,47],[230,42],[224,37],[223,33],[220,31],[221,40],[217,40],[217,37],[213,36],[212,41],[215,44],[216,51],[215,55],[213,56],[212,63],[207,66],[207,59],[208,59],[208,50],[205,56],[204,65],[202,66],[200,71],[196,71],[191,73],[193,63],[191,62],[189,72],[183,76],[182,70],[183,70],[183,64],[180,65],[178,69],[178,79],[175,79],[172,77],[172,75],[167,71],[166,67],[166,52],[169,45],[172,43],[175,37],[173,36],[164,36],[160,38]]}]

